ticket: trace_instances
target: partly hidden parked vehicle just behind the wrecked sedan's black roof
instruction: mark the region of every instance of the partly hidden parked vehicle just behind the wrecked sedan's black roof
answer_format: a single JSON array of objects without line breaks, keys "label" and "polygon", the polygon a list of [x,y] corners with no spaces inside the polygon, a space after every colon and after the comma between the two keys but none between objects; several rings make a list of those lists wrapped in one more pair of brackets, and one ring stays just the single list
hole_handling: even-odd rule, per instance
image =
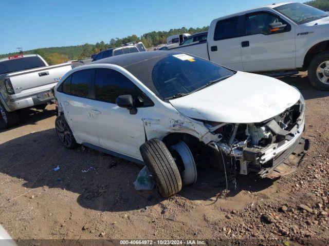
[{"label": "partly hidden parked vehicle just behind the wrecked sedan's black roof", "polygon": [[94,54],[92,58],[93,61],[95,61],[115,55],[130,54],[130,53],[142,52],[142,51],[146,51],[145,46],[142,42],[138,42],[138,43],[132,42],[132,43],[124,44],[120,47],[103,50],[98,54]]}]

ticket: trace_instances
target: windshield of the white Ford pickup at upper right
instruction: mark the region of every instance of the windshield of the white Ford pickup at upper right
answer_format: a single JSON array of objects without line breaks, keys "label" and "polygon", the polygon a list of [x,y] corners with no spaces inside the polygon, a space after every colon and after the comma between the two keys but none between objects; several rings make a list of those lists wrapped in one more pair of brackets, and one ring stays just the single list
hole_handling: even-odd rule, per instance
[{"label": "windshield of the white Ford pickup at upper right", "polygon": [[274,9],[287,16],[298,25],[329,16],[328,13],[322,10],[301,3],[285,4]]}]

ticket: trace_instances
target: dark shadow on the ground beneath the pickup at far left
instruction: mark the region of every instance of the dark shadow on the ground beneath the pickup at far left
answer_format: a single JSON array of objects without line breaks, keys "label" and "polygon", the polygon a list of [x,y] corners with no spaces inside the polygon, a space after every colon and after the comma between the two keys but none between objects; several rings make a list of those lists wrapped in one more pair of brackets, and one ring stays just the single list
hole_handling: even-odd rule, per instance
[{"label": "dark shadow on the ground beneath the pickup at far left", "polygon": [[17,127],[22,127],[26,125],[36,125],[38,121],[52,117],[56,115],[56,110],[53,106],[47,106],[46,110],[36,110],[36,109],[23,109],[19,111],[20,124],[14,127],[7,128],[0,118],[0,133],[6,132]]}]

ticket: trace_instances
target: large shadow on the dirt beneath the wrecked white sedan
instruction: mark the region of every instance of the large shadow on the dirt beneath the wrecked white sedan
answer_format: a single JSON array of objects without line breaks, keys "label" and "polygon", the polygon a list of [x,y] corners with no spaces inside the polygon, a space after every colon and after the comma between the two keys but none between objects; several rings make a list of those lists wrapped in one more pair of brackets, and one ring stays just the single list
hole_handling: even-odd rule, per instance
[{"label": "large shadow on the dirt beneath the wrecked white sedan", "polygon": [[[141,166],[92,149],[64,148],[54,129],[33,132],[0,145],[0,172],[25,180],[23,187],[65,189],[79,194],[80,206],[98,211],[130,211],[160,203],[156,189],[136,191],[133,185]],[[58,171],[53,169],[59,167]],[[220,170],[198,169],[198,181],[183,187],[178,196],[208,200],[226,190]],[[238,177],[229,182],[228,196],[242,190],[266,189],[271,182]]]}]

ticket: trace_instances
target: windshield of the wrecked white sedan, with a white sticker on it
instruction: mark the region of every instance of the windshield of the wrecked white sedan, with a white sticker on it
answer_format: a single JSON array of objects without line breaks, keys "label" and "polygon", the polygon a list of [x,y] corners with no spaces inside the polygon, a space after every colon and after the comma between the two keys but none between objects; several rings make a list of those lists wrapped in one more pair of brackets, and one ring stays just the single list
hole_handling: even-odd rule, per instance
[{"label": "windshield of the wrecked white sedan, with a white sticker on it", "polygon": [[125,69],[162,100],[193,93],[235,73],[210,61],[178,52],[142,60]]}]

